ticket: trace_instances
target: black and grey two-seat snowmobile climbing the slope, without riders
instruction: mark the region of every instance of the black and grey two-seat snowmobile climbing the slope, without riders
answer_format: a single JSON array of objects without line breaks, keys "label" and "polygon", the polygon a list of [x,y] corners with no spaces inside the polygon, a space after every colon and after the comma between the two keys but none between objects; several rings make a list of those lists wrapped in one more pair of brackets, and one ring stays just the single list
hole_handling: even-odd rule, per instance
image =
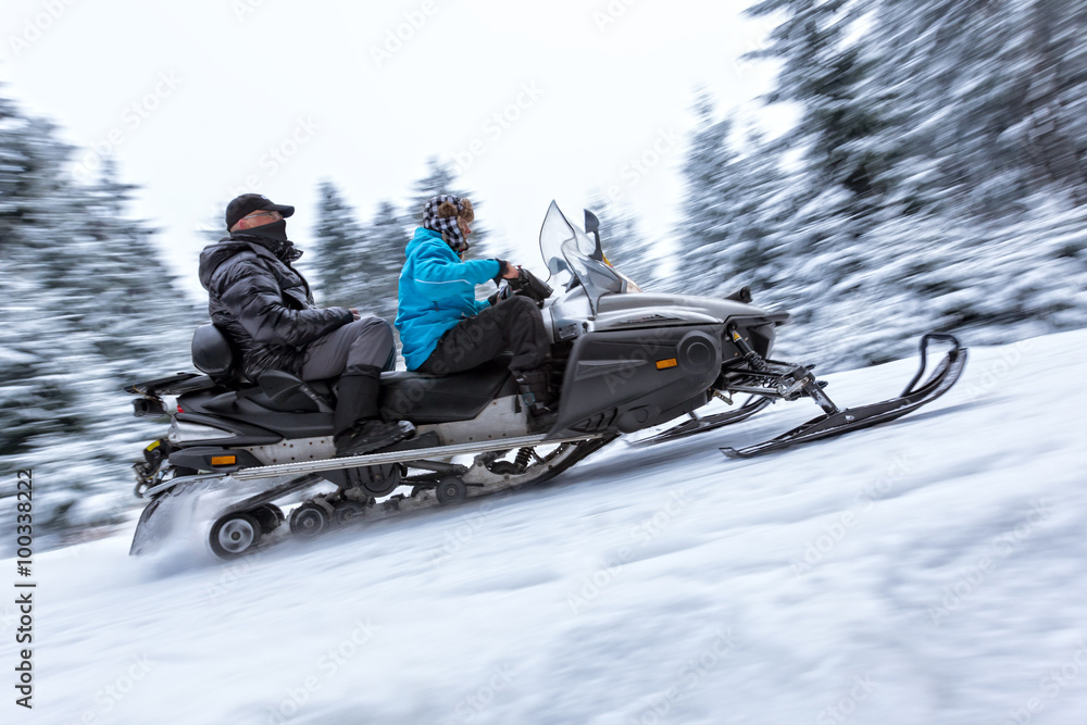
[{"label": "black and grey two-seat snowmobile climbing the slope, without riders", "polygon": [[[447,376],[387,372],[383,415],[411,421],[415,436],[365,455],[335,458],[335,380],[303,382],[272,371],[254,385],[238,373],[222,333],[200,327],[192,361],[202,374],[178,373],[127,388],[139,396],[137,416],[171,418],[166,435],[135,465],[135,493],[148,504],[132,553],[161,545],[171,536],[171,522],[212,491],[218,498],[208,542],[229,559],[277,538],[285,522],[291,535],[310,538],[360,517],[538,484],[624,434],[684,416],[640,443],[713,430],[771,402],[800,398],[812,399],[823,413],[773,440],[722,451],[744,458],[855,430],[932,402],[965,365],[966,350],[958,340],[926,335],[921,370],[902,395],[839,409],[811,365],[771,358],[775,329],[788,322],[788,313],[759,308],[749,295],[642,292],[604,257],[599,221],[589,211],[583,232],[551,202],[540,250],[548,279],[523,270],[501,295],[533,298],[551,332],[559,395],[555,410],[542,416],[526,408],[502,360]],[[934,340],[951,349],[917,385]],[[714,399],[734,404],[734,397],[744,395],[735,410],[695,413]],[[221,504],[223,498],[229,501]]]}]

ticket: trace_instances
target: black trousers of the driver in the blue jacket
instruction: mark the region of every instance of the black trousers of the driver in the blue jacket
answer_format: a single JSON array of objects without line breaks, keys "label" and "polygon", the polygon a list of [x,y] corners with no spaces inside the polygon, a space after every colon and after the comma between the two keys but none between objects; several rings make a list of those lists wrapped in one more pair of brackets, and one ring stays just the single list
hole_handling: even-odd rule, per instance
[{"label": "black trousers of the driver in the blue jacket", "polygon": [[441,336],[418,372],[451,375],[507,351],[513,353],[510,370],[514,372],[534,370],[551,358],[551,340],[544,317],[527,297],[511,297],[457,323]]}]

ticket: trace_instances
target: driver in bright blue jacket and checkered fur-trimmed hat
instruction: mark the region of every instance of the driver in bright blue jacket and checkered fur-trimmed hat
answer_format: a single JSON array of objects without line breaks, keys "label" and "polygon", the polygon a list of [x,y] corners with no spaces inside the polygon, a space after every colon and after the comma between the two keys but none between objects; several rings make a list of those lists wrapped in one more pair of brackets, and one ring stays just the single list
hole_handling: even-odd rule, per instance
[{"label": "driver in bright blue jacket and checkered fur-trimmed hat", "polygon": [[476,285],[513,279],[520,268],[505,260],[464,261],[474,221],[472,202],[452,195],[433,197],[423,209],[400,272],[396,326],[408,370],[451,375],[509,351],[526,405],[547,412],[554,398],[550,335],[527,297],[475,299]]}]

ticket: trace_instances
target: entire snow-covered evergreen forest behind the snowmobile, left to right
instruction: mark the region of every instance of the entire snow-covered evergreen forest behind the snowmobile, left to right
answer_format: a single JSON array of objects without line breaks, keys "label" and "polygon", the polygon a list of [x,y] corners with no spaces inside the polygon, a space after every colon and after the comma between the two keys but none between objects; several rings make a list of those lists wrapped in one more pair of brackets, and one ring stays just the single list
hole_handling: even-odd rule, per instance
[{"label": "entire snow-covered evergreen forest behind the snowmobile, left to right", "polygon": [[[765,0],[748,13],[776,22],[751,55],[778,64],[763,102],[789,104],[797,126],[771,138],[698,95],[676,238],[650,243],[628,210],[587,204],[619,268],[647,290],[750,285],[795,315],[782,355],[820,370],[910,355],[925,332],[987,345],[1087,326],[1087,5]],[[36,533],[59,543],[138,503],[128,468],[159,427],[123,389],[188,370],[207,313],[172,283],[153,221],[129,216],[122,171],[76,182],[75,150],[3,93],[0,461],[49,482]],[[295,234],[320,304],[395,316],[422,201],[486,204],[450,168],[435,158],[368,218],[335,182],[314,189],[318,223]],[[474,247],[505,255],[485,232]],[[13,496],[13,476],[0,486]]]}]

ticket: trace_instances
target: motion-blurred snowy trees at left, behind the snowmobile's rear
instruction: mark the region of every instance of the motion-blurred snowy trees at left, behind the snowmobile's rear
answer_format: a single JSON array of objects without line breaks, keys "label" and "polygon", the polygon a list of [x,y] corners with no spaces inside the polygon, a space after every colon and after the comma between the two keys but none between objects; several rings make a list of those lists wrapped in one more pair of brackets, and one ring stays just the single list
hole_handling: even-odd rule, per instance
[{"label": "motion-blurred snowy trees at left, behind the snowmobile's rear", "polygon": [[0,115],[0,461],[34,468],[48,542],[135,503],[129,466],[150,432],[122,388],[188,367],[193,314],[151,230],[124,217],[130,187],[112,167],[75,185],[51,124],[7,100]]}]

